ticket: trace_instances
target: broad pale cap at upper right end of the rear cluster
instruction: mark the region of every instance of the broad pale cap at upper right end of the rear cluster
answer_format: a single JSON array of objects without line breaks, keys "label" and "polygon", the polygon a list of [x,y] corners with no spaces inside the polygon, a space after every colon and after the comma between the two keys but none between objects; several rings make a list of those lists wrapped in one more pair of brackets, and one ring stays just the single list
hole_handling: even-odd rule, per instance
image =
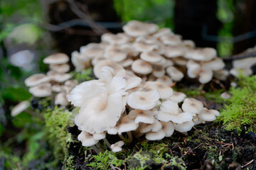
[{"label": "broad pale cap at upper right end of the rear cluster", "polygon": [[198,50],[186,50],[185,57],[196,61],[210,61],[217,55],[214,48],[205,47]]}]

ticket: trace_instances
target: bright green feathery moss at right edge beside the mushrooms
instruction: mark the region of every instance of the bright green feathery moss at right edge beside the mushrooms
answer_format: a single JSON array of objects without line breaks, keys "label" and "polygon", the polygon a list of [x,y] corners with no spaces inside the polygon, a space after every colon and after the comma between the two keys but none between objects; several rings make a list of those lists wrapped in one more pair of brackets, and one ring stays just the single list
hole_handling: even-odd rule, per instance
[{"label": "bright green feathery moss at right edge beside the mushrooms", "polygon": [[232,87],[229,93],[232,95],[226,100],[226,105],[220,111],[218,120],[223,122],[226,130],[256,132],[256,80],[255,77],[239,77],[238,88]]}]

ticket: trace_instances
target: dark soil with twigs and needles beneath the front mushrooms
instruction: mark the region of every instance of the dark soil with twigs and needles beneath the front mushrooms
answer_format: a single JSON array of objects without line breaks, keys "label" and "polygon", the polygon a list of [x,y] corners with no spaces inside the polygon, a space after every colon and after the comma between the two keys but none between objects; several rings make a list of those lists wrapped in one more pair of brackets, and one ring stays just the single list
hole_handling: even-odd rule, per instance
[{"label": "dark soil with twigs and needles beneath the front mushrooms", "polygon": [[[162,142],[168,144],[169,154],[185,162],[186,169],[256,169],[256,135],[252,132],[242,132],[238,135],[237,132],[224,130],[216,124],[195,126],[188,132],[188,136],[175,132],[171,137],[164,138]],[[80,133],[76,126],[68,128],[68,131],[73,135],[74,140]],[[134,149],[134,143],[128,147]],[[82,152],[81,148],[80,142],[73,142],[69,148],[70,155],[74,157],[75,168],[92,169],[86,166],[92,160],[85,161],[85,152]],[[90,154],[95,153],[90,151]],[[127,164],[127,167],[136,168],[136,162],[132,160]],[[153,160],[147,161],[146,165],[146,169],[161,169],[162,166]],[[124,169],[122,166],[119,168]],[[166,166],[164,169],[180,168]]]}]

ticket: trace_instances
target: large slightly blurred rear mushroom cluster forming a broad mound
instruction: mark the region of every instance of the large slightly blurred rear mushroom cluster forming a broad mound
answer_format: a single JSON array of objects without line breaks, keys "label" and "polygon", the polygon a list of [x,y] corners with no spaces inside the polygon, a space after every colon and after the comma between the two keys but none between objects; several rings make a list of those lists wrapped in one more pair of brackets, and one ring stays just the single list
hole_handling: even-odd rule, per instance
[{"label": "large slightly blurred rear mushroom cluster forming a broad mound", "polygon": [[198,48],[192,40],[182,40],[169,28],[153,23],[129,21],[124,33],[105,33],[102,42],[90,43],[73,52],[72,62],[77,70],[94,66],[100,78],[101,68],[109,66],[118,72],[126,69],[144,81],[181,81],[185,75],[206,84],[213,77],[225,80],[228,71],[223,60],[210,47]]}]

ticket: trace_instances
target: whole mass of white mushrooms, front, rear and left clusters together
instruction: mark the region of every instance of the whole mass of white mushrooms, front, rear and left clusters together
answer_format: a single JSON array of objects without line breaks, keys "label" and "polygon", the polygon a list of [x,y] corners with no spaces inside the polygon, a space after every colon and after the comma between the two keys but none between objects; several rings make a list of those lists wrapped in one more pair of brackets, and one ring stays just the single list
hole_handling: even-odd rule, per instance
[{"label": "whole mass of white mushrooms, front, rear and left clusters together", "polygon": [[[98,79],[78,84],[70,80],[68,56],[50,55],[47,74],[34,74],[25,84],[33,96],[54,94],[55,105],[79,108],[75,125],[81,130],[78,140],[99,152],[97,142],[104,140],[113,152],[124,145],[124,133],[132,137],[161,140],[174,133],[187,132],[193,125],[213,121],[218,111],[171,86],[183,77],[201,84],[213,77],[225,80],[228,71],[213,48],[195,47],[192,40],[182,40],[169,28],[152,23],[130,21],[124,33],[106,33],[102,42],[90,43],[73,52],[76,70],[93,66]],[[122,141],[110,145],[106,134],[119,135]]]}]

